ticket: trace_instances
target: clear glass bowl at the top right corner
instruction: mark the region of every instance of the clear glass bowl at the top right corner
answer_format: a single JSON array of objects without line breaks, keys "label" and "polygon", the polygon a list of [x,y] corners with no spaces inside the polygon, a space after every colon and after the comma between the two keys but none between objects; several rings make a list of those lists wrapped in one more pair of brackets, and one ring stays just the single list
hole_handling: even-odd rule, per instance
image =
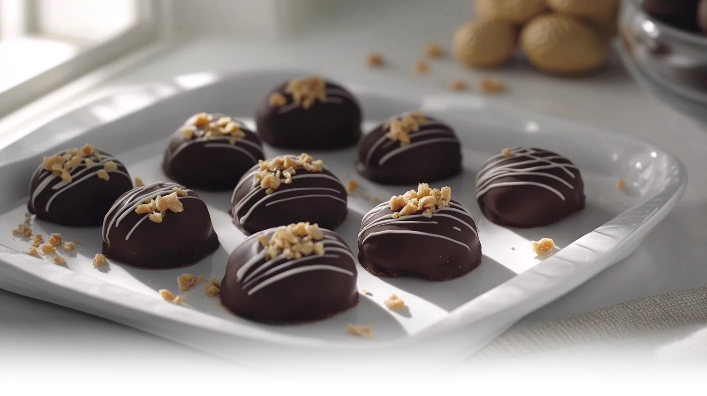
[{"label": "clear glass bowl at the top right corner", "polygon": [[672,107],[707,123],[707,35],[680,30],[627,0],[617,49],[633,78]]}]

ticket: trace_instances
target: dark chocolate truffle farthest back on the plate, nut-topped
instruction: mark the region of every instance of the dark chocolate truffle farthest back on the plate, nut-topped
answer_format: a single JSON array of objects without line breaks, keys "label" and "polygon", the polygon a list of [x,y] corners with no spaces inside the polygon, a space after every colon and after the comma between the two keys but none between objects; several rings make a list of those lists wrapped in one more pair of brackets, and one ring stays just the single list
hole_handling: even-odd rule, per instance
[{"label": "dark chocolate truffle farthest back on the plate, nut-topped", "polygon": [[257,111],[257,130],[271,146],[333,150],[361,137],[361,106],[349,91],[312,76],[275,88]]}]

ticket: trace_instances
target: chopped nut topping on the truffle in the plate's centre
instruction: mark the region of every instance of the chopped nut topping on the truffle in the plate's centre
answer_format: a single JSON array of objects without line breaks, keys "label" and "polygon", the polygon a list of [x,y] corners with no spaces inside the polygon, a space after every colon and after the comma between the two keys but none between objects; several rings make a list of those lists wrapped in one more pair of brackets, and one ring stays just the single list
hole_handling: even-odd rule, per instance
[{"label": "chopped nut topping on the truffle in the plate's centre", "polygon": [[[253,187],[259,185],[266,190],[266,194],[277,190],[281,182],[290,184],[296,168],[305,168],[310,172],[321,172],[323,168],[322,160],[313,161],[307,153],[301,153],[299,157],[279,156],[270,161],[260,160],[258,164],[259,171],[253,175]],[[281,180],[282,177],[285,180]]]}]

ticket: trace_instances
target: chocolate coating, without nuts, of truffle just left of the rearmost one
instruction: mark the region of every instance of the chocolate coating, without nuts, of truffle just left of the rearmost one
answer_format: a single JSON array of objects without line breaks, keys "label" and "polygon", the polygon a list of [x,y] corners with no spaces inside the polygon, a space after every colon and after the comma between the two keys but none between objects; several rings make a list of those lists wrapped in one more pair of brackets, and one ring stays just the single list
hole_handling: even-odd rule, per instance
[{"label": "chocolate coating, without nuts, of truffle just left of the rearmost one", "polygon": [[[218,120],[225,116],[214,113],[212,117]],[[205,140],[203,128],[197,128],[194,137],[185,141],[182,128],[178,129],[165,150],[162,163],[165,175],[198,190],[233,190],[246,170],[258,160],[265,159],[260,137],[247,129],[243,122],[233,121],[240,124],[240,130],[245,134],[235,144],[230,144],[227,136]]]}]

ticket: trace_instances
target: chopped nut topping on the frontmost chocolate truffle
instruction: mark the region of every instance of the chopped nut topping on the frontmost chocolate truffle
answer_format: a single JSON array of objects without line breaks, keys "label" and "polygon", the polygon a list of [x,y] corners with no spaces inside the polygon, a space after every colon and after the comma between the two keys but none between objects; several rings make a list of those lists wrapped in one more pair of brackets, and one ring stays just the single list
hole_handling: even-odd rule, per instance
[{"label": "chopped nut topping on the frontmost chocolate truffle", "polygon": [[312,254],[323,255],[324,243],[317,242],[322,238],[324,234],[317,224],[296,223],[278,227],[269,239],[261,234],[258,236],[258,242],[266,250],[269,260],[279,255],[298,259]]}]

